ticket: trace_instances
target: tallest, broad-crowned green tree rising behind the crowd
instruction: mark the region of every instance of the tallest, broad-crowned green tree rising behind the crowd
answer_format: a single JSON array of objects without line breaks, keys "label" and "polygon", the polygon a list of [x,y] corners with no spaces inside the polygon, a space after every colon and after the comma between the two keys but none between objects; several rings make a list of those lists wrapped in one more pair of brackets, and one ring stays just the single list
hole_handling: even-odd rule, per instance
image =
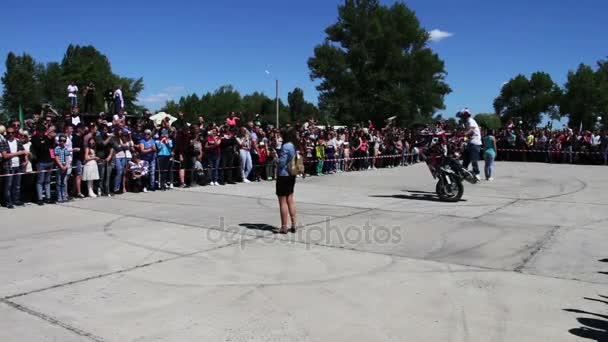
[{"label": "tallest, broad-crowned green tree rising behind the crowd", "polygon": [[393,115],[411,122],[445,107],[451,89],[444,63],[412,10],[400,2],[346,0],[338,15],[308,61],[311,79],[321,80],[323,112],[342,123]]}]

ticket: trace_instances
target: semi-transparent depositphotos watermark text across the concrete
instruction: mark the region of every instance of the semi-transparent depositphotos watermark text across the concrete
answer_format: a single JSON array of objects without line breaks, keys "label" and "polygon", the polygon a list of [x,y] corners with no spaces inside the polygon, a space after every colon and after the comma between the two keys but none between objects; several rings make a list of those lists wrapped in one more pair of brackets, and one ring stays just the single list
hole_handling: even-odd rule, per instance
[{"label": "semi-transparent depositphotos watermark text across the concrete", "polygon": [[[219,218],[217,226],[206,229],[207,240],[217,243],[240,243],[251,240],[252,236],[264,243],[277,243],[291,241],[294,243],[311,245],[327,245],[341,247],[355,247],[358,245],[390,245],[399,244],[403,238],[404,228],[374,225],[371,218],[362,221],[361,225],[342,225],[332,222],[331,217],[323,222],[305,225],[296,229],[296,233],[274,236],[278,228],[267,224],[241,223],[231,225],[226,223],[224,217]],[[270,233],[270,234],[269,234]],[[284,237],[284,238],[280,238]]]}]

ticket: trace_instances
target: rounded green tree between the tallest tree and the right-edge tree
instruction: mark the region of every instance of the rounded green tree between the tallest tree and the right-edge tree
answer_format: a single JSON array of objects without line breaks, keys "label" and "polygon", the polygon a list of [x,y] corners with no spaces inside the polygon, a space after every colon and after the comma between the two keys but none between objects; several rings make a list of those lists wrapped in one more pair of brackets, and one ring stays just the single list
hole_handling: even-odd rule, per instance
[{"label": "rounded green tree between the tallest tree and the right-edge tree", "polygon": [[524,75],[517,75],[503,85],[494,100],[494,110],[503,121],[521,118],[524,125],[536,127],[543,114],[559,118],[560,96],[559,86],[547,73],[535,72],[529,80]]}]

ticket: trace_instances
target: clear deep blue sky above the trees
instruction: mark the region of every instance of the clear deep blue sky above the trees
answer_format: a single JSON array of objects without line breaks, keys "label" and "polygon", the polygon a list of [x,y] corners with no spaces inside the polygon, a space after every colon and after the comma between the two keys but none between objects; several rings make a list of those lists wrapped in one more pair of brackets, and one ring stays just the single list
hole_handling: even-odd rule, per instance
[{"label": "clear deep blue sky above the trees", "polygon": [[[340,2],[5,0],[0,58],[13,51],[41,62],[60,61],[68,44],[92,44],[109,57],[115,72],[144,77],[140,100],[152,109],[166,99],[224,84],[274,97],[275,78],[284,100],[300,87],[316,103],[306,62],[323,30],[335,22]],[[568,70],[608,56],[607,1],[407,4],[427,30],[449,33],[430,44],[445,60],[453,89],[447,116],[464,106],[492,111],[502,83],[518,73],[546,71],[563,85]]]}]

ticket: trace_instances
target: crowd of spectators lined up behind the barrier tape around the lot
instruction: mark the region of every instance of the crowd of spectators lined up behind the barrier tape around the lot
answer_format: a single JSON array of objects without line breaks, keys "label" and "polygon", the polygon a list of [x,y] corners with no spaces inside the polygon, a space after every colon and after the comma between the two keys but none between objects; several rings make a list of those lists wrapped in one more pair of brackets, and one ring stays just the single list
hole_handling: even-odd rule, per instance
[{"label": "crowd of spectators lined up behind the barrier tape around the lot", "polygon": [[[121,108],[118,106],[118,108]],[[0,125],[2,204],[38,205],[174,187],[272,181],[284,136],[276,127],[230,113],[223,122],[184,113],[161,122],[151,113],[34,114]],[[286,125],[284,128],[291,128]],[[293,126],[305,158],[303,176],[408,166],[418,162],[419,134],[389,122],[324,127],[310,119]],[[498,160],[606,164],[605,132],[507,128],[496,134]],[[576,153],[572,153],[576,152]],[[51,186],[54,184],[54,186]],[[84,185],[84,186],[83,186]]]}]

